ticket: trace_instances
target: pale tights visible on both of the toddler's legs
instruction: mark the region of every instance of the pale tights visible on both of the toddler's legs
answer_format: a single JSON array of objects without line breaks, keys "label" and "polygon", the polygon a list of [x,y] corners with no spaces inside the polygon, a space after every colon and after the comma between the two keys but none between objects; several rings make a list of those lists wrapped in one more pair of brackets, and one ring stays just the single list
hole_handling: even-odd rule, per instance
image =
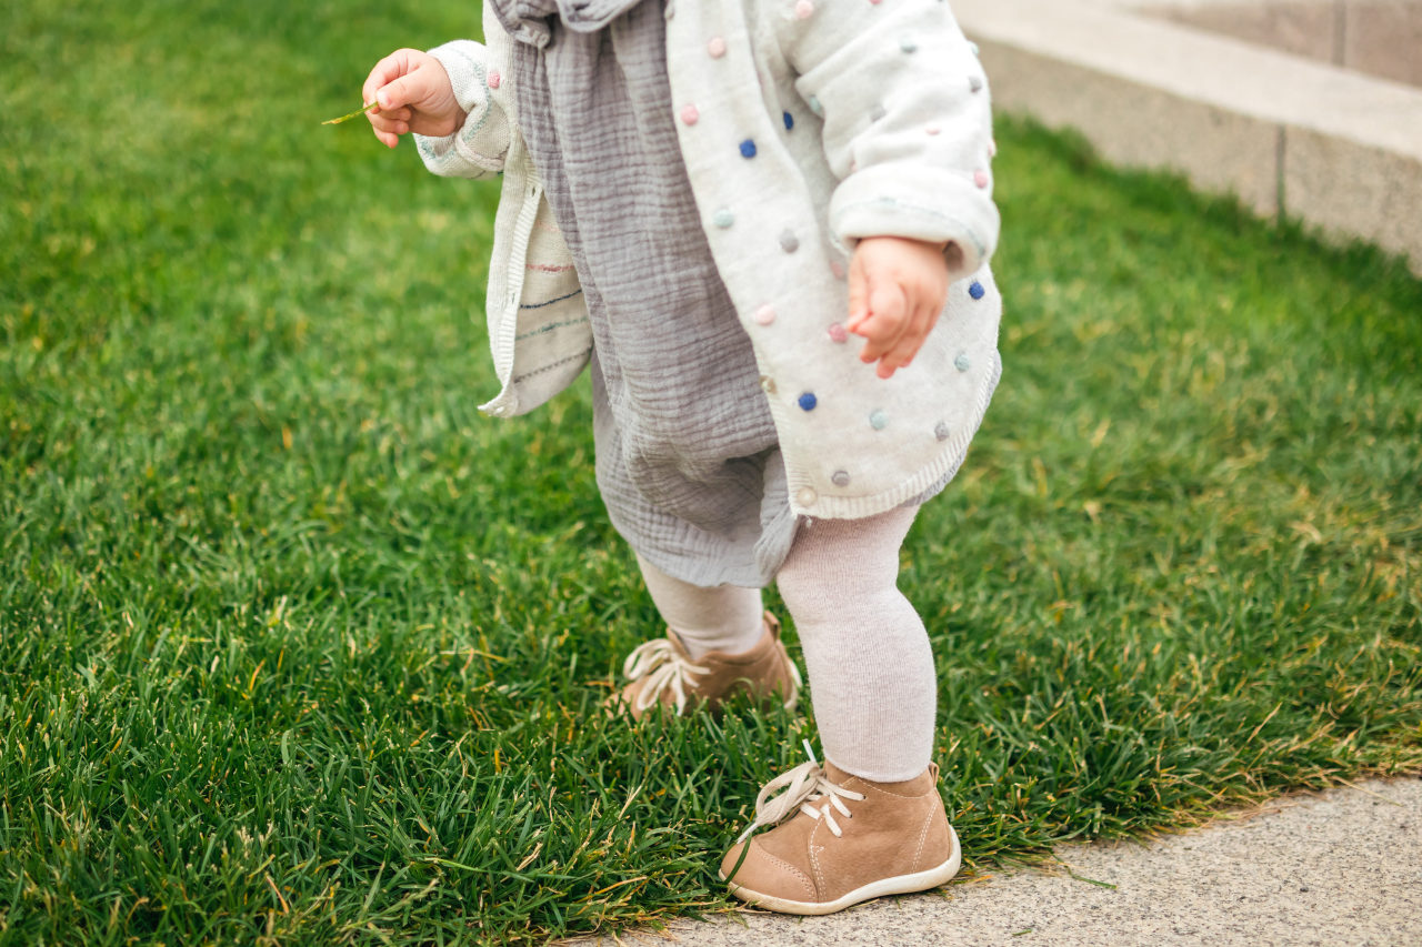
[{"label": "pale tights visible on both of the toddler's legs", "polygon": [[[933,754],[933,650],[897,586],[899,549],[916,512],[809,520],[775,577],[805,651],[825,756],[875,782],[913,779]],[[745,651],[759,638],[758,589],[702,589],[638,562],[693,657]]]}]

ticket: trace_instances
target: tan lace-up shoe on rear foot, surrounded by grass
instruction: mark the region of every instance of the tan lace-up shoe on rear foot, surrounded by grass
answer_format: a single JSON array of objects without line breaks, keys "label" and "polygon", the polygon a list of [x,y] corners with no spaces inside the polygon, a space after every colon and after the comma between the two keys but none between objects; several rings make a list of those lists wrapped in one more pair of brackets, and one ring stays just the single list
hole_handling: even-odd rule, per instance
[{"label": "tan lace-up shoe on rear foot, surrounded by grass", "polygon": [[762,701],[775,700],[795,710],[801,674],[781,644],[781,623],[765,613],[765,634],[749,651],[710,651],[695,661],[677,636],[667,633],[627,656],[623,674],[629,684],[610,708],[641,719],[656,707],[684,714],[687,707],[720,708],[732,694],[747,692]]}]

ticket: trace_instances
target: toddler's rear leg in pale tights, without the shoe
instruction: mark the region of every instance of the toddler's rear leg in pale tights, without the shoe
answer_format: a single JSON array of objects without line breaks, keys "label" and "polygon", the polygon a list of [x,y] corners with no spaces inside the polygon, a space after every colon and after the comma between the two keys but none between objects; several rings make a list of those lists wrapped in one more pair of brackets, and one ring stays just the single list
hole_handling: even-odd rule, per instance
[{"label": "toddler's rear leg in pale tights, without the shoe", "polygon": [[749,651],[765,634],[759,589],[704,589],[673,579],[641,556],[637,565],[661,620],[675,631],[691,658],[707,651]]}]

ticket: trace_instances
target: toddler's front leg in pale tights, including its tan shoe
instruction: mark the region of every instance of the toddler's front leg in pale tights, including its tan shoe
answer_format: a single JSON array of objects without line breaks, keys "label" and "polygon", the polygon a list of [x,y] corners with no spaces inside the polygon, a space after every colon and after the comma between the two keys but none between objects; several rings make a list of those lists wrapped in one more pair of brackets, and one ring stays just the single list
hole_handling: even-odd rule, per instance
[{"label": "toddler's front leg in pale tights, including its tan shoe", "polygon": [[748,833],[775,828],[722,859],[721,877],[752,904],[828,914],[936,887],[958,870],[930,761],[933,651],[896,586],[913,513],[818,520],[801,529],[781,569],[828,759],[766,785]]}]

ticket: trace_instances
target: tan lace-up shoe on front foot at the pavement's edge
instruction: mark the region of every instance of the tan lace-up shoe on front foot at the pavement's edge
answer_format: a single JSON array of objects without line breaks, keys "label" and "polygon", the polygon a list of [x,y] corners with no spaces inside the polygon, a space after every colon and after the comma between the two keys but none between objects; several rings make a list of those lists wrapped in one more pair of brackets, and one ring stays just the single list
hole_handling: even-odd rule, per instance
[{"label": "tan lace-up shoe on front foot at the pavement's edge", "polygon": [[742,835],[722,859],[721,877],[734,896],[772,911],[832,914],[884,894],[926,892],[963,862],[934,764],[906,782],[870,782],[829,762],[820,769],[811,756],[766,783],[755,812],[747,835],[781,825],[748,845]]}]

